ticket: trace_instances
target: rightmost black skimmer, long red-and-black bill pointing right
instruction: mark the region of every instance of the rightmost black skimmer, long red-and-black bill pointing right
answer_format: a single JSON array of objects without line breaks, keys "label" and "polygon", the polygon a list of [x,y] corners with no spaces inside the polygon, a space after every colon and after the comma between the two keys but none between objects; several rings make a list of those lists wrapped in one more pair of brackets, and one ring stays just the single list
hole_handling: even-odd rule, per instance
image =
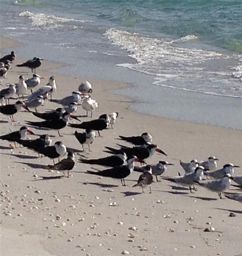
[{"label": "rightmost black skimmer, long red-and-black bill pointing right", "polygon": [[127,156],[136,155],[140,160],[145,160],[145,159],[151,157],[155,153],[155,151],[157,151],[163,155],[167,155],[164,151],[162,151],[160,148],[158,148],[158,146],[155,144],[148,144],[148,145],[145,144],[143,146],[135,146],[133,148],[128,148],[123,145],[119,145],[119,146],[121,146],[121,149],[115,149],[115,148],[106,146],[105,148],[108,149],[108,151],[104,150],[104,152],[111,153],[111,154],[118,154],[118,153],[124,151]]}]

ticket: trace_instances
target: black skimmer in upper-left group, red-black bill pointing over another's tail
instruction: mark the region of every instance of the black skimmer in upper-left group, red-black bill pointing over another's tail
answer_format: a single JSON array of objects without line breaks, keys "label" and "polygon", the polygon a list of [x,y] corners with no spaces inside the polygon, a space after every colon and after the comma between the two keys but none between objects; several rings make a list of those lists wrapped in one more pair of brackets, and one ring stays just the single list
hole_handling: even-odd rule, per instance
[{"label": "black skimmer in upper-left group, red-black bill pointing over another's tail", "polygon": [[61,136],[59,130],[66,127],[66,125],[69,121],[69,117],[80,121],[77,117],[65,112],[62,114],[62,117],[60,119],[46,120],[43,122],[26,121],[26,123],[31,126],[34,126],[34,127],[48,128],[50,130],[58,130],[58,134],[59,134],[59,136]]}]

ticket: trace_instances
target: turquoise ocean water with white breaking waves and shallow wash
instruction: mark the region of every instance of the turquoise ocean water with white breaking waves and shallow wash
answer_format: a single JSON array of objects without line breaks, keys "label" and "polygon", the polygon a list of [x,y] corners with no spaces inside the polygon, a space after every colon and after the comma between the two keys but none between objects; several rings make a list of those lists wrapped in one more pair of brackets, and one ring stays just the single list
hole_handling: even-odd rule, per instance
[{"label": "turquoise ocean water with white breaking waves and shallow wash", "polygon": [[136,90],[120,93],[142,99],[141,112],[164,116],[150,104],[167,89],[241,106],[241,11],[242,1],[232,0],[1,0],[0,21],[1,34],[25,43],[18,54],[68,63],[65,74],[131,82]]}]

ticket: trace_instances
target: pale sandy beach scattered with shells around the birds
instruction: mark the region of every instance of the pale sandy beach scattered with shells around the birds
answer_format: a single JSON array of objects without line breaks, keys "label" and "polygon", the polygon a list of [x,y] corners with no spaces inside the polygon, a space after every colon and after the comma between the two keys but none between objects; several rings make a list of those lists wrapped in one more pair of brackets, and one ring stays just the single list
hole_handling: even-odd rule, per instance
[{"label": "pale sandy beach scattered with shells around the birds", "polygon": [[[14,47],[11,43],[14,41],[1,40],[1,47]],[[20,74],[31,76],[26,68],[15,67],[25,60],[17,58],[4,82],[17,82]],[[103,138],[95,139],[92,152],[81,153],[87,158],[105,156],[106,153],[102,151],[104,146],[115,146],[118,135],[149,132],[154,143],[168,157],[154,154],[147,162],[154,164],[159,160],[166,160],[175,164],[167,170],[165,176],[176,176],[178,171],[182,172],[179,159],[204,160],[215,155],[219,158],[219,167],[228,162],[242,166],[241,130],[132,112],[129,110],[129,98],[108,92],[120,87],[128,88],[128,84],[51,72],[51,69],[61,65],[43,61],[37,71],[37,74],[47,78],[42,81],[42,86],[51,75],[55,76],[58,89],[54,98],[69,95],[71,91],[77,90],[81,81],[88,80],[93,85],[92,97],[100,106],[94,111],[93,118],[102,113],[119,112],[114,129],[104,130]],[[2,85],[1,89],[4,87]],[[45,101],[39,111],[58,106]],[[85,111],[79,106],[77,114],[83,115]],[[1,115],[1,120],[4,121],[1,123],[1,134],[19,129],[24,120],[39,121],[28,112],[16,114],[15,119],[17,122],[11,124],[7,117]],[[82,118],[82,121],[89,119]],[[44,131],[33,130],[44,134]],[[53,141],[61,139],[67,146],[81,149],[81,145],[71,134],[74,131],[65,127],[62,131],[64,137],[55,137]],[[56,136],[57,132],[50,131],[49,134]],[[27,137],[36,138],[33,135]],[[56,172],[36,168],[39,164],[51,164],[52,161],[37,158],[37,154],[26,148],[10,149],[7,141],[1,140],[0,143],[3,256],[116,256],[122,255],[123,250],[129,251],[130,255],[147,256],[227,256],[242,253],[242,205],[238,202],[221,200],[216,193],[200,187],[191,194],[186,188],[172,187],[173,184],[168,181],[155,182],[152,194],[148,193],[147,188],[145,193],[141,193],[140,188],[131,187],[138,179],[138,173],[132,173],[126,182],[128,186],[122,187],[119,180],[100,179],[86,174],[85,171],[90,170],[90,166],[80,163],[76,163],[70,178],[38,181],[33,174],[57,175]],[[76,158],[79,156],[76,155]],[[36,165],[30,167],[29,164]],[[236,174],[242,174],[242,168],[235,171]],[[57,197],[61,202],[55,202]],[[111,202],[116,202],[117,206],[109,206]],[[236,217],[228,217],[230,212],[234,212]],[[57,215],[61,219],[57,220]],[[165,215],[170,215],[170,218],[164,218]],[[135,226],[137,230],[129,230],[131,226]],[[215,232],[205,233],[203,230],[210,226],[215,228]],[[134,233],[135,238],[130,238],[130,233]]]}]

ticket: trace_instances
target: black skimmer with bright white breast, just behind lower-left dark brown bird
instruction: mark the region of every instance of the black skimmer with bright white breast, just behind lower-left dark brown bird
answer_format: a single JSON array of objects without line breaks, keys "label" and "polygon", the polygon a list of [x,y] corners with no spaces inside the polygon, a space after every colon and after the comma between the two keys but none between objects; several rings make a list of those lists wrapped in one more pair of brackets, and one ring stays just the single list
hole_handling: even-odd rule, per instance
[{"label": "black skimmer with bright white breast, just behind lower-left dark brown bird", "polygon": [[66,146],[58,141],[55,142],[53,146],[44,146],[42,148],[39,148],[36,150],[39,154],[43,154],[45,156],[48,156],[48,158],[53,160],[53,163],[55,164],[54,159],[55,158],[61,158],[66,154]]}]

